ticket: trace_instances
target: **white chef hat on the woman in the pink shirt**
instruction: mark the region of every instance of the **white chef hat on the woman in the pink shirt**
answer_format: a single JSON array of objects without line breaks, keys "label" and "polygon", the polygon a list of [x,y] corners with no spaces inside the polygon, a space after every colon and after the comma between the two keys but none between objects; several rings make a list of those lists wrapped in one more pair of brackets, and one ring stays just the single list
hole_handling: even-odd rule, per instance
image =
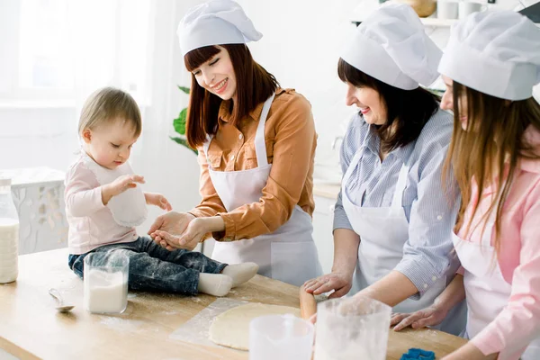
[{"label": "white chef hat on the woman in the pink shirt", "polygon": [[452,27],[438,69],[482,93],[527,99],[540,82],[540,29],[512,11],[471,14]]}]

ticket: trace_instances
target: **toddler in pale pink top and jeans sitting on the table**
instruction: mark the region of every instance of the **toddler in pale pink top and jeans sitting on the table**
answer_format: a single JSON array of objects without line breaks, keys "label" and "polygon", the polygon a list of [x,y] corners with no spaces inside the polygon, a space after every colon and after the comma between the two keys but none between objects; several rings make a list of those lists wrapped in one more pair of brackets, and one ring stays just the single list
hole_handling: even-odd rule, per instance
[{"label": "toddler in pale pink top and jeans sitting on the table", "polygon": [[78,126],[82,149],[66,175],[69,267],[82,278],[86,255],[123,253],[130,258],[132,290],[226,295],[256,275],[257,264],[228,266],[199,252],[166,250],[137,235],[146,204],[171,210],[163,195],[142,193],[138,184],[144,178],[134,175],[127,162],[141,129],[139,107],[130,94],[106,87],[86,101]]}]

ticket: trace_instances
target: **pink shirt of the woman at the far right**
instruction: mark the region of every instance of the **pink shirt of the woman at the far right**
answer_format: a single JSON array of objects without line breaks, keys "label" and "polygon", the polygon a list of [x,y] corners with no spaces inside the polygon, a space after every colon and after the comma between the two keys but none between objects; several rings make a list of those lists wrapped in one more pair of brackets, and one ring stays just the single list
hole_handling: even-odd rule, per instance
[{"label": "pink shirt of the woman at the far right", "polygon": [[[525,136],[540,148],[540,133],[529,128]],[[473,219],[474,230],[464,237],[461,229],[460,238],[480,242],[482,226],[474,225],[487,212],[496,190],[494,186],[484,190]],[[473,199],[477,193],[473,183]],[[474,206],[476,202],[469,205],[467,212]],[[512,291],[504,310],[471,340],[484,355],[499,353],[509,346],[525,350],[531,340],[540,337],[540,160],[522,160],[518,164],[503,211],[498,262]],[[494,236],[495,231],[492,245]]]}]

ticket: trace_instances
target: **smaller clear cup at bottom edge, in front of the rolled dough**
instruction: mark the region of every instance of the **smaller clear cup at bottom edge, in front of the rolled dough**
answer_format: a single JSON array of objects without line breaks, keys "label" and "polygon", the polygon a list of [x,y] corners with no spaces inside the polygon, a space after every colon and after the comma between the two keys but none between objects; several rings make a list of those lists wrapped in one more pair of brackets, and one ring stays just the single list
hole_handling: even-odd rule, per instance
[{"label": "smaller clear cup at bottom edge, in front of the rolled dough", "polygon": [[249,324],[250,360],[311,360],[314,327],[294,315],[267,315]]}]

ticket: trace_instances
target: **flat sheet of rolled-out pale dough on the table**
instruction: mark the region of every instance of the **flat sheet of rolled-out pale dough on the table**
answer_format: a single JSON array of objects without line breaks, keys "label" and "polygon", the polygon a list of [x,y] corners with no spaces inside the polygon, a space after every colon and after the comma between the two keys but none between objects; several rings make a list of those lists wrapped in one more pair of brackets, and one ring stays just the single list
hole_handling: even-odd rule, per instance
[{"label": "flat sheet of rolled-out pale dough on the table", "polygon": [[224,347],[249,349],[249,322],[259,316],[293,314],[300,318],[300,309],[289,306],[251,302],[225,311],[211,323],[211,341]]}]

